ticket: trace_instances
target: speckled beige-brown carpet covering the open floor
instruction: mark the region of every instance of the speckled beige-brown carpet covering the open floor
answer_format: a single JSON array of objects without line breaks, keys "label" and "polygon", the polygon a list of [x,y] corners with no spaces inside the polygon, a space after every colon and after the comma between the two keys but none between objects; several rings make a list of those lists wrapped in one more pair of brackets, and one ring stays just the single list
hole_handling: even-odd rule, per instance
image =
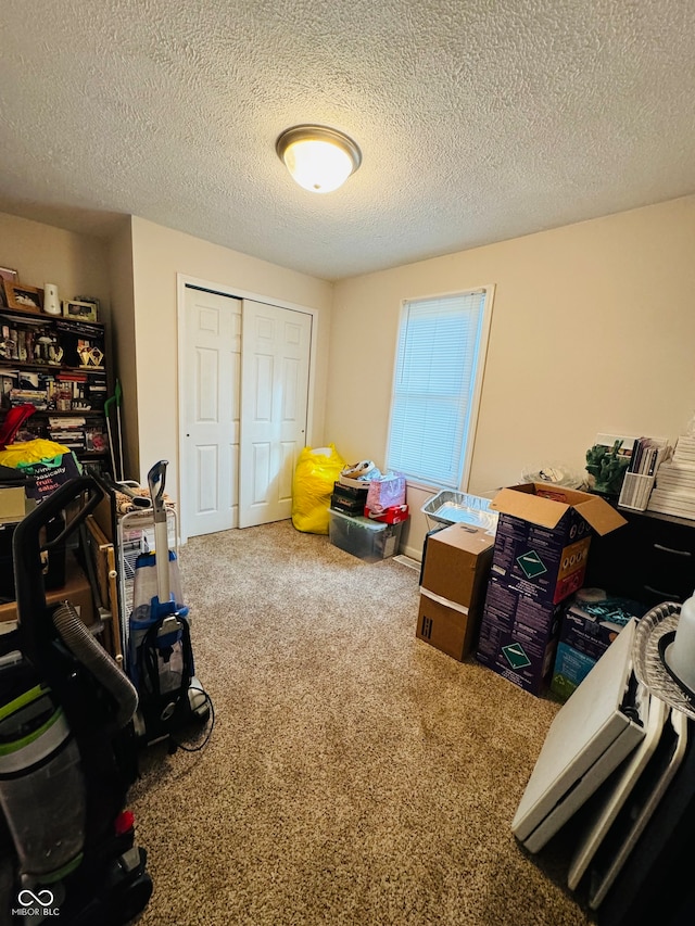
[{"label": "speckled beige-brown carpet covering the open floor", "polygon": [[509,829],[557,705],[416,640],[417,572],[286,521],[181,574],[217,722],[142,759],[140,926],[590,922]]}]

